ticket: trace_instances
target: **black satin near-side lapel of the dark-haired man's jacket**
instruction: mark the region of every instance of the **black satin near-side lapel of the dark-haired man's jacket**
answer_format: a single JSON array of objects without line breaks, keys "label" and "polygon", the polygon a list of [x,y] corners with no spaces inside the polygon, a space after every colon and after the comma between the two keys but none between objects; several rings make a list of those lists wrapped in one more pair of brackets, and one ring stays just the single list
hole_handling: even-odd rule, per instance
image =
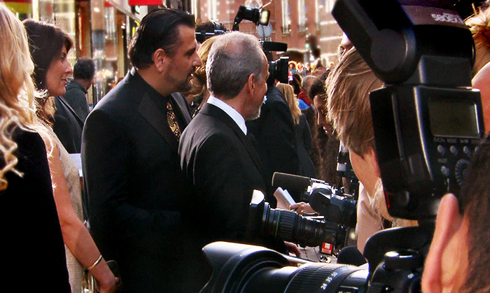
[{"label": "black satin near-side lapel of the dark-haired man's jacket", "polygon": [[145,94],[141,103],[138,106],[138,112],[151,124],[151,126],[157,129],[158,133],[165,138],[165,141],[169,143],[170,148],[177,151],[179,149],[179,141],[174,136],[174,133],[169,127],[167,117],[158,109],[155,102]]}]

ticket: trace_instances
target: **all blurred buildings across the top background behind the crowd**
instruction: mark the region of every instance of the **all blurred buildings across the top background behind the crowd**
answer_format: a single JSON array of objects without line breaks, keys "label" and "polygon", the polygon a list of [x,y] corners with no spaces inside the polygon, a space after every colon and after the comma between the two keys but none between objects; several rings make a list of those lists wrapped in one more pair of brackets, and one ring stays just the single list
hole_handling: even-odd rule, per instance
[{"label": "all blurred buildings across the top background behind the crowd", "polygon": [[[471,0],[454,0],[467,3]],[[23,20],[54,22],[73,38],[72,64],[90,57],[97,64],[97,81],[89,94],[93,106],[130,69],[127,46],[134,29],[148,11],[167,6],[195,15],[197,22],[219,22],[232,29],[241,5],[271,11],[267,27],[244,20],[239,30],[265,41],[288,44],[283,53],[295,62],[337,62],[342,30],[330,11],[335,0],[6,0],[6,5]]]}]

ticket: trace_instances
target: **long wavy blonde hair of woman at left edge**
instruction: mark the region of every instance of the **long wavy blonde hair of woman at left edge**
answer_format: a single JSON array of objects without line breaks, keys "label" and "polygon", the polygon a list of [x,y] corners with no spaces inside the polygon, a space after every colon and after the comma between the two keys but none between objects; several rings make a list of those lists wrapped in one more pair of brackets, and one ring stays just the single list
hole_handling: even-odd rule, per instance
[{"label": "long wavy blonde hair of woman at left edge", "polygon": [[16,127],[34,127],[35,91],[31,75],[34,64],[29,53],[29,43],[24,26],[3,2],[0,3],[0,191],[6,190],[5,174],[13,171],[18,162],[15,157],[17,143],[12,134]]}]

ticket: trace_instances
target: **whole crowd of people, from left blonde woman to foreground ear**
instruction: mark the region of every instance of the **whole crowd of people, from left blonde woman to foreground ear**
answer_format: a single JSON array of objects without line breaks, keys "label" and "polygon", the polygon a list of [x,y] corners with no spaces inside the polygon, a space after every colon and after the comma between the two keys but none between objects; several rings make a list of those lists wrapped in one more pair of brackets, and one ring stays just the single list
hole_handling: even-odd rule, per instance
[{"label": "whole crowd of people, from left blonde woman to foreground ear", "polygon": [[[478,17],[468,21],[475,39],[486,11]],[[335,66],[306,72],[291,63],[289,83],[277,83],[254,36],[220,30],[197,42],[196,31],[182,10],[148,13],[128,48],[133,68],[89,110],[94,62],[72,69],[62,29],[20,22],[0,3],[6,278],[23,280],[28,270],[22,290],[48,281],[54,292],[81,292],[90,277],[101,293],[199,292],[212,273],[201,250],[214,241],[299,256],[295,243],[248,226],[252,196],[262,192],[276,207],[274,172],[348,190],[336,170],[341,143],[360,181],[358,250],[381,229],[417,224],[388,214],[369,103],[383,83],[345,35]],[[483,55],[477,50],[474,83],[485,106]],[[490,292],[489,169],[490,136],[461,194],[440,203],[423,292]],[[315,212],[292,196],[291,210]]]}]

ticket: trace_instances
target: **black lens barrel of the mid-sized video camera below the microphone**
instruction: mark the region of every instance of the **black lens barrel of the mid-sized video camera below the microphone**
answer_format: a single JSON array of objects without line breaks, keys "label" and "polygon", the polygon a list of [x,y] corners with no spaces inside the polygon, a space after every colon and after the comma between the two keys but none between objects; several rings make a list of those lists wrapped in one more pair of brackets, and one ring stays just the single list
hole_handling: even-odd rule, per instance
[{"label": "black lens barrel of the mid-sized video camera below the microphone", "polygon": [[276,210],[268,204],[266,207],[262,219],[265,235],[310,247],[337,241],[336,223],[309,219],[290,210]]}]

